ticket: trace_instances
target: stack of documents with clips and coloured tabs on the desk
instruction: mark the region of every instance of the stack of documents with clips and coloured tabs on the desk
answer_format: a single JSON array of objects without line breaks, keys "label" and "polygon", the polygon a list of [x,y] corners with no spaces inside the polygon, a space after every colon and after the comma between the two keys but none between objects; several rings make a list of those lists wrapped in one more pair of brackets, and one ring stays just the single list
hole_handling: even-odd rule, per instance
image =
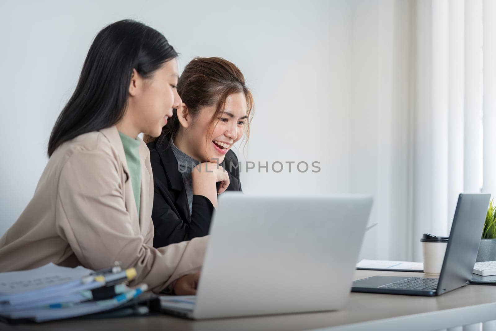
[{"label": "stack of documents with clips and coloured tabs on the desk", "polygon": [[59,320],[114,309],[147,290],[125,283],[136,270],[119,265],[93,271],[54,264],[0,273],[0,316],[36,322]]}]

